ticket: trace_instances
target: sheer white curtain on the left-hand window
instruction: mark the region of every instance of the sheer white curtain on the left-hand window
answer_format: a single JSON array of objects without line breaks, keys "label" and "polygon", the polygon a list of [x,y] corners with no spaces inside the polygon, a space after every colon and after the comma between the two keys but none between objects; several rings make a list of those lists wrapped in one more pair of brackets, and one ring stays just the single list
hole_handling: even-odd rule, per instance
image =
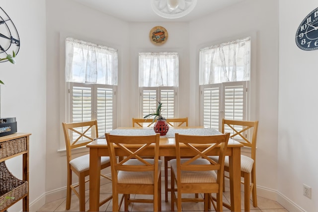
[{"label": "sheer white curtain on the left-hand window", "polygon": [[66,81],[117,85],[117,50],[67,38],[66,54]]}]

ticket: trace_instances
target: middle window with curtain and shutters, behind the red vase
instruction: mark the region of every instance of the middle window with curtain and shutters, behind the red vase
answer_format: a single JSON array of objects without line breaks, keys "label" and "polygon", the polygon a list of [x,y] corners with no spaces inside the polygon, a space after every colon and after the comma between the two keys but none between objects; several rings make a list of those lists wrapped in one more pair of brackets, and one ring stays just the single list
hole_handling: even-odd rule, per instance
[{"label": "middle window with curtain and shutters, behind the red vase", "polygon": [[176,117],[178,80],[178,53],[139,53],[141,116],[153,113],[160,101],[162,115],[166,119]]}]

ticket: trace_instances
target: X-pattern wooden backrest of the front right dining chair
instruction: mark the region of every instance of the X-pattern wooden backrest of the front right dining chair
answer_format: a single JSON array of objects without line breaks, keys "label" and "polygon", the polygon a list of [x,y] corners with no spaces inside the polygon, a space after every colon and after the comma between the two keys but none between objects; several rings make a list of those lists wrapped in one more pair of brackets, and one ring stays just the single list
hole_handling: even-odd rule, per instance
[{"label": "X-pattern wooden backrest of the front right dining chair", "polygon": [[[221,134],[213,136],[189,136],[189,135],[179,135],[175,134],[175,144],[176,144],[176,161],[177,161],[177,179],[180,182],[181,171],[209,171],[217,170],[218,179],[217,183],[223,183],[224,174],[224,158],[226,149],[228,146],[230,134]],[[181,144],[181,148],[180,148]],[[185,149],[185,145],[187,148]],[[220,147],[220,149],[218,149]],[[194,155],[186,160],[186,162],[181,163],[180,151],[186,151],[189,155]],[[216,152],[219,156],[219,161],[215,162],[209,155],[212,152]],[[210,163],[205,165],[196,165],[193,163],[196,159],[206,159]]]}]

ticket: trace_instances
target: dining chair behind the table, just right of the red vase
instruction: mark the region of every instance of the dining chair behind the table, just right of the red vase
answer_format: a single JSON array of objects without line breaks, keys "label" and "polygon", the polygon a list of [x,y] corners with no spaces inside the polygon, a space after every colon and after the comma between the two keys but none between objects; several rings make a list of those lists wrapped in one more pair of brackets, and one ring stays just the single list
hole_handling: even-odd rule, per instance
[{"label": "dining chair behind the table, just right of the red vase", "polygon": [[[170,126],[174,127],[181,127],[186,126],[188,127],[188,117],[185,118],[170,118],[166,119],[166,123]],[[165,202],[168,202],[168,192],[171,191],[170,188],[168,188],[168,161],[173,159],[175,157],[172,156],[165,156],[164,157],[164,200]],[[196,195],[197,197],[197,195]]]}]

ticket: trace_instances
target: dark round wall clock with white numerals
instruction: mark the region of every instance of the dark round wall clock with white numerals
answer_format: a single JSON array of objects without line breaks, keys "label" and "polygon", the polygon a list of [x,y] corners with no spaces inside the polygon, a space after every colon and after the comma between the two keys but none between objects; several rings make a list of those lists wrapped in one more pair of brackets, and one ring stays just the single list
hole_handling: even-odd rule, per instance
[{"label": "dark round wall clock with white numerals", "polygon": [[309,13],[296,32],[297,46],[306,51],[318,49],[318,8]]}]

